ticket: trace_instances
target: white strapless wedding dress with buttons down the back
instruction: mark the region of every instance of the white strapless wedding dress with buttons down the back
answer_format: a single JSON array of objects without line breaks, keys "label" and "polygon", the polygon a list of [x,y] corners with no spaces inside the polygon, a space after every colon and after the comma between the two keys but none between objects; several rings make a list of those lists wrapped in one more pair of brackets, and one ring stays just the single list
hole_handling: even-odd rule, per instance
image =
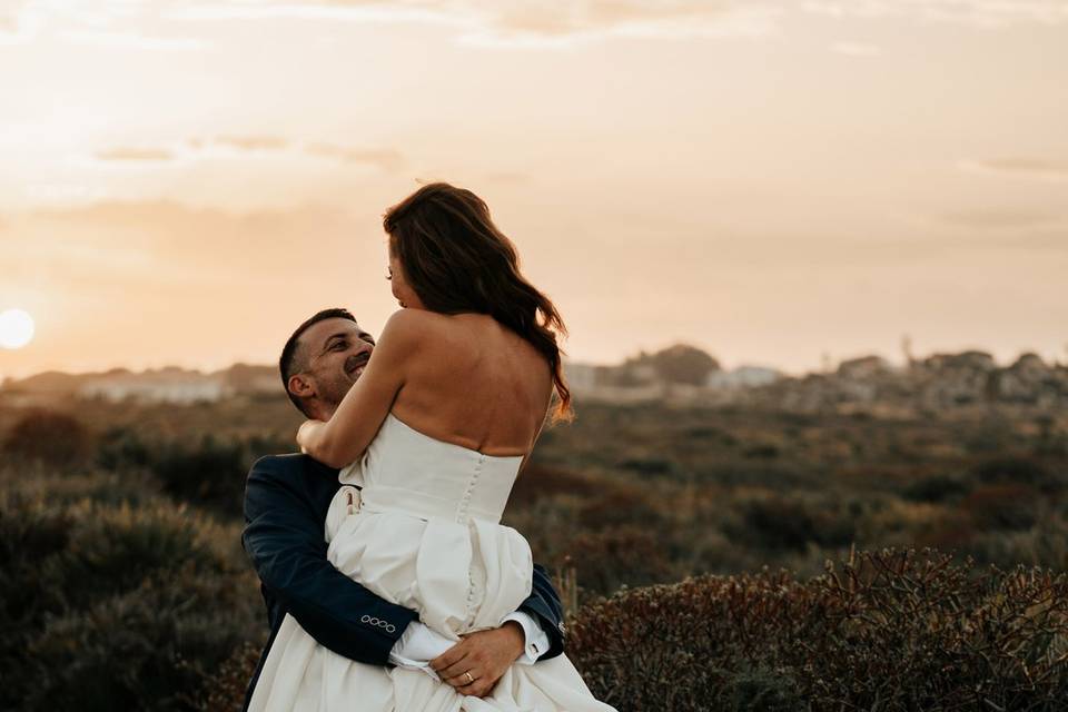
[{"label": "white strapless wedding dress with buttons down the back", "polygon": [[[362,461],[340,472],[326,520],[330,562],[449,639],[501,625],[530,595],[533,577],[526,540],[500,524],[522,461],[438,441],[390,413]],[[478,699],[419,670],[353,662],[288,614],[249,710],[614,712],[566,655],[513,664]]]}]

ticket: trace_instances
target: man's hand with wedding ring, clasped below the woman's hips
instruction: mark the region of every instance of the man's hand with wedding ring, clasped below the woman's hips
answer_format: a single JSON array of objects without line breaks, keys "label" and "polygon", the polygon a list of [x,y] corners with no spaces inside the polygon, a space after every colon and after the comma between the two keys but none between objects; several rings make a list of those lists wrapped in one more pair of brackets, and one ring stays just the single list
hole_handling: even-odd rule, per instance
[{"label": "man's hand with wedding ring, clasped below the woman's hips", "polygon": [[[461,694],[484,698],[523,653],[523,627],[508,621],[492,631],[479,631],[431,661],[431,668]],[[471,673],[468,678],[467,673]],[[474,680],[474,682],[472,682]]]}]

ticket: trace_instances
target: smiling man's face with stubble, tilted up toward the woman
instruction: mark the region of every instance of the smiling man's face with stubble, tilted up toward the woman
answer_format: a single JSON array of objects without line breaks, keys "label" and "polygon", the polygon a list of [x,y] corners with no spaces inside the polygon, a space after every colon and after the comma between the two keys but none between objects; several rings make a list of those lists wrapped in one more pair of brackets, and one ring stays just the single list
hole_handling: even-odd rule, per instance
[{"label": "smiling man's face with stubble, tilted up toward the woman", "polygon": [[306,349],[307,368],[301,374],[314,397],[333,414],[334,409],[364,373],[374,337],[348,319],[324,319],[300,336]]}]

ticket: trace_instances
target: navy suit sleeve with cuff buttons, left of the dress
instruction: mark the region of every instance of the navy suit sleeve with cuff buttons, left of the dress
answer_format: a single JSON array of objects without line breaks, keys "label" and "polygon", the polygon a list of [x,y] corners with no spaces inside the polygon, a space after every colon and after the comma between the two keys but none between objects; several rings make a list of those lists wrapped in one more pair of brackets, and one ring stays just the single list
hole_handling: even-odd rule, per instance
[{"label": "navy suit sleeve with cuff buttons, left of the dress", "polygon": [[300,476],[277,458],[253,465],[245,488],[245,551],[264,586],[318,643],[350,660],[385,665],[418,616],[330,564],[323,521],[301,493]]}]

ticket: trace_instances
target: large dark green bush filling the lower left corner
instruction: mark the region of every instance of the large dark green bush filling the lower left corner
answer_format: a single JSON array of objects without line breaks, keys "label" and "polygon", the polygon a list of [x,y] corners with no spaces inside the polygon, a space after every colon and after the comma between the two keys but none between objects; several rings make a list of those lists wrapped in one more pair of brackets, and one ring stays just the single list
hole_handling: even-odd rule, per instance
[{"label": "large dark green bush filling the lower left corner", "polygon": [[237,526],[151,492],[116,503],[115,475],[70,492],[0,474],[0,709],[189,710],[238,644],[263,640]]}]

